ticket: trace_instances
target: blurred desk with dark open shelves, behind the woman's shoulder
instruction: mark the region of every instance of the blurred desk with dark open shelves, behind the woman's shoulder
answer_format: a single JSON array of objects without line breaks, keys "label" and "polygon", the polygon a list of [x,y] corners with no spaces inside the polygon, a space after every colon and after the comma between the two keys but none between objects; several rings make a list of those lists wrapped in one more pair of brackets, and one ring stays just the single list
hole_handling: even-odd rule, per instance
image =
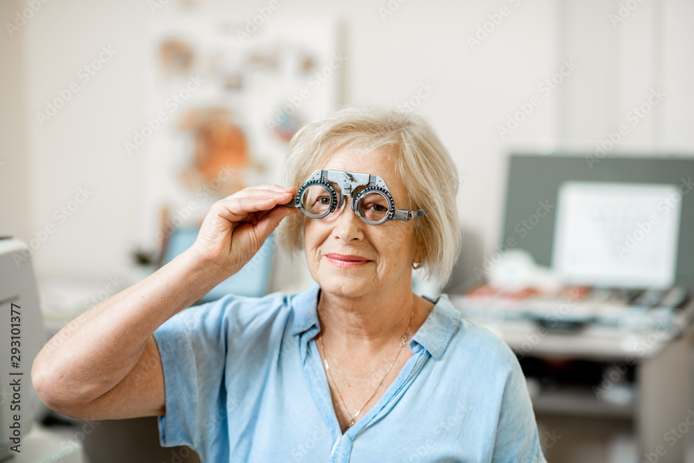
[{"label": "blurred desk with dark open shelves, behind the woman's shoulder", "polygon": [[[682,310],[691,314],[694,302]],[[534,385],[531,398],[541,435],[549,430],[566,437],[561,451],[557,446],[545,454],[548,461],[582,461],[570,455],[592,448],[590,461],[607,462],[598,455],[606,455],[611,439],[623,434],[634,436],[641,457],[666,445],[659,463],[689,461],[692,437],[684,433],[670,443],[663,435],[686,419],[691,422],[687,416],[694,410],[691,321],[648,327],[625,318],[613,326],[582,323],[561,332],[554,328],[570,320],[561,312],[545,319],[549,324],[523,317],[466,318],[496,333],[516,353],[529,386]]]}]

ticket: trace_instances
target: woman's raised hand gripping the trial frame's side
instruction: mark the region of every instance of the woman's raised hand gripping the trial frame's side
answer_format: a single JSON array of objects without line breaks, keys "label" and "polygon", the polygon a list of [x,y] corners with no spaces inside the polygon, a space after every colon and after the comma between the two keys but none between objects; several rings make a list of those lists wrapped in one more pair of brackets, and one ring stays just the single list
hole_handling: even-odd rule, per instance
[{"label": "woman's raised hand gripping the trial frame's side", "polygon": [[217,267],[226,279],[253,258],[280,221],[296,188],[261,185],[240,190],[212,205],[190,251]]}]

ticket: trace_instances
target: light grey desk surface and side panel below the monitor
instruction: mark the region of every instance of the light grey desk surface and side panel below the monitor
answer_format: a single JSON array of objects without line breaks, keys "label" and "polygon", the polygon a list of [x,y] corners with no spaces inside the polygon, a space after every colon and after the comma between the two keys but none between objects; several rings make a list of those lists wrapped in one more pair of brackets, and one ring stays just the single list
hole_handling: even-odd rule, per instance
[{"label": "light grey desk surface and side panel below the monitor", "polygon": [[[451,297],[451,301],[457,305],[455,297]],[[688,461],[687,448],[694,443],[694,438],[690,437],[694,434],[693,312],[694,301],[690,301],[683,310],[685,316],[676,325],[668,330],[641,332],[588,324],[577,332],[557,333],[527,319],[484,317],[480,312],[475,312],[475,317],[466,314],[466,318],[501,337],[516,352],[521,363],[534,357],[555,361],[589,360],[606,366],[628,364],[634,369],[634,394],[625,401],[605,400],[602,393],[616,384],[606,377],[603,377],[604,383],[592,388],[560,385],[552,391],[531,391],[539,428],[555,430],[561,427],[563,430],[558,434],[569,435],[575,432],[571,424],[580,422],[583,429],[592,427],[596,435],[627,432],[634,437],[634,456],[638,457],[630,461],[682,463]],[[618,375],[613,379],[618,380]],[[688,432],[689,428],[693,428],[693,432]],[[569,440],[559,441],[554,448],[546,449],[548,461],[625,461],[609,460],[609,451],[605,449],[602,453],[594,451],[588,457],[588,453],[581,450],[581,439],[573,439],[575,448],[571,448]],[[572,451],[584,453],[572,455]]]}]

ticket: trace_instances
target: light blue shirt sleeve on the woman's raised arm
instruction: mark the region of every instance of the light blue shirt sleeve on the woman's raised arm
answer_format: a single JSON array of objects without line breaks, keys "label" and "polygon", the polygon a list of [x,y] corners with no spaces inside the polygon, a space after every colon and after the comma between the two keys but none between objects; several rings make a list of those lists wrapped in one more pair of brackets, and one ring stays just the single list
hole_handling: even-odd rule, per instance
[{"label": "light blue shirt sleeve on the woman's raised arm", "polygon": [[219,439],[214,432],[226,420],[227,299],[187,308],[153,333],[166,395],[166,415],[158,418],[162,446],[198,450]]}]

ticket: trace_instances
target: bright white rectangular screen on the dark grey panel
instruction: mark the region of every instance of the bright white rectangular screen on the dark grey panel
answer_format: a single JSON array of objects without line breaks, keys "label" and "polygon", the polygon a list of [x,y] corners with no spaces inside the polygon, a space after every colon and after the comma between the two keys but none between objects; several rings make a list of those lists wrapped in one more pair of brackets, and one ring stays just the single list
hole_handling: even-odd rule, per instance
[{"label": "bright white rectangular screen on the dark grey panel", "polygon": [[552,268],[573,285],[672,285],[681,201],[667,183],[561,183]]}]

